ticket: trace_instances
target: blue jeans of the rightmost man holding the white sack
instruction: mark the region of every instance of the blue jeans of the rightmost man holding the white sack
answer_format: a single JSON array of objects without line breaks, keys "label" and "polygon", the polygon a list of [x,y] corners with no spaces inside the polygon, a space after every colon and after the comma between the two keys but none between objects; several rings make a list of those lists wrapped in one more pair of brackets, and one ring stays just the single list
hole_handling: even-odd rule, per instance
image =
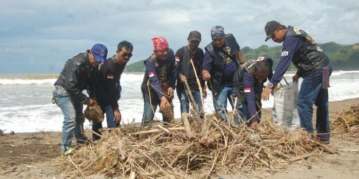
[{"label": "blue jeans of the rightmost man holding the white sack", "polygon": [[[332,72],[329,66],[329,75]],[[328,110],[328,89],[322,88],[322,69],[316,70],[303,78],[303,82],[298,93],[296,107],[298,109],[301,126],[309,133],[313,133],[313,104],[316,109],[316,132],[323,141],[329,141],[329,110]],[[313,137],[312,137],[313,139]]]}]

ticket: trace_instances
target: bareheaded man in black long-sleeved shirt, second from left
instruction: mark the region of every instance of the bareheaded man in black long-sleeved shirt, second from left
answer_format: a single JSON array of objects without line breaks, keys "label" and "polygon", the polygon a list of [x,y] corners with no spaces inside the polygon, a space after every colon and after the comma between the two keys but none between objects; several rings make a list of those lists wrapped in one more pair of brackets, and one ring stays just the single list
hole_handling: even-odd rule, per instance
[{"label": "bareheaded man in black long-sleeved shirt, second from left", "polygon": [[[106,122],[108,128],[116,128],[121,122],[121,112],[118,108],[118,99],[121,91],[119,91],[119,80],[125,69],[127,62],[132,57],[133,46],[128,41],[119,42],[116,54],[108,58],[106,62],[99,67],[99,75],[97,78],[96,94],[97,103],[101,107],[103,113],[106,113]],[[99,135],[102,128],[101,122],[93,122],[92,130]],[[92,140],[97,140],[100,136],[92,133]]]}]

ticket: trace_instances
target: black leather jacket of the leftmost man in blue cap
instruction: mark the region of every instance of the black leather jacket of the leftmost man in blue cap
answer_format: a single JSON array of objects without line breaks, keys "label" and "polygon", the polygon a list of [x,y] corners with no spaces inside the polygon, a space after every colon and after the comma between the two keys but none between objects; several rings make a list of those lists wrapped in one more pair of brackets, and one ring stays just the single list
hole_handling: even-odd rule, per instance
[{"label": "black leather jacket of the leftmost man in blue cap", "polygon": [[97,68],[93,68],[89,60],[90,50],[79,53],[71,59],[67,60],[64,69],[54,85],[62,86],[75,99],[83,104],[87,104],[90,100],[82,93],[88,89],[90,97],[95,97],[94,84],[97,77]]}]

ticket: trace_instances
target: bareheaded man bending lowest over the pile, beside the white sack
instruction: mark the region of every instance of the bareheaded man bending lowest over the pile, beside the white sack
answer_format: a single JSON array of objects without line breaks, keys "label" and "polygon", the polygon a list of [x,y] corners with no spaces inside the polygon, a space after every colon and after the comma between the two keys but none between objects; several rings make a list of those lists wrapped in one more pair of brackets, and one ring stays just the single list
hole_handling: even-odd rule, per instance
[{"label": "bareheaded man bending lowest over the pile, beside the white sack", "polygon": [[[263,84],[272,78],[273,60],[268,57],[258,57],[246,61],[234,76],[234,85],[238,100],[242,101],[243,111],[250,121],[248,126],[256,127],[261,120],[261,94]],[[248,120],[244,119],[244,120]]]}]

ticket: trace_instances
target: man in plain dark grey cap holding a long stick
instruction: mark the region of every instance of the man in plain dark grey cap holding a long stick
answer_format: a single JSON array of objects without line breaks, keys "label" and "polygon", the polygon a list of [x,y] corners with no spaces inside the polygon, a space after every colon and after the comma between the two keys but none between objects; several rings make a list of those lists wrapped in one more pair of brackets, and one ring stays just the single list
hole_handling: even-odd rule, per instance
[{"label": "man in plain dark grey cap holding a long stick", "polygon": [[[204,98],[207,96],[207,86],[205,85],[205,82],[202,78],[202,64],[204,54],[203,50],[198,48],[201,42],[201,33],[198,31],[191,31],[188,35],[187,41],[188,46],[184,46],[181,49],[178,49],[175,54],[179,74],[177,78],[176,92],[179,102],[181,103],[181,114],[189,113],[189,98],[187,95],[188,91],[191,91],[199,112],[202,112],[200,87],[203,89]],[[198,76],[200,86],[198,86],[196,76]],[[184,85],[185,81],[187,81],[189,89],[187,89],[186,85]],[[203,117],[203,114],[200,116]]]}]

